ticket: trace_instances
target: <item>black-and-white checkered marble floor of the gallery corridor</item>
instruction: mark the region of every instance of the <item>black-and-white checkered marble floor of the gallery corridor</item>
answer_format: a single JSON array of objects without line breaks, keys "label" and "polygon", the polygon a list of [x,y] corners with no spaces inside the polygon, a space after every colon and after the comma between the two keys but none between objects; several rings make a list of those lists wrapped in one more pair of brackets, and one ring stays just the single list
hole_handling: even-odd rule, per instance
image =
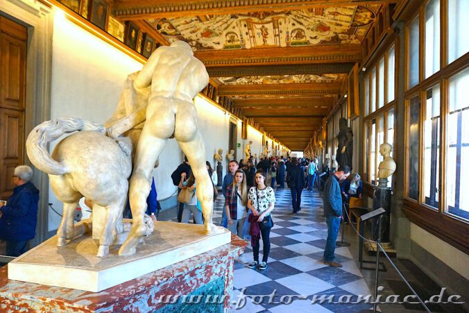
[{"label": "black-and-white checkered marble floor of the gallery corridor", "polygon": [[[373,294],[375,271],[360,270],[357,263],[358,239],[350,226],[346,226],[346,241],[349,247],[336,248],[336,261],[343,267],[329,267],[323,262],[327,225],[323,217],[323,201],[318,192],[302,192],[298,215],[290,215],[291,195],[289,189],[275,190],[276,202],[273,211],[274,226],[271,230],[271,252],[268,267],[264,271],[249,269],[246,264],[253,261],[250,246],[235,261],[234,289],[232,292],[233,312],[360,312],[373,305],[359,296]],[[221,221],[224,198],[215,201],[214,223]],[[176,209],[161,212],[160,220],[171,220]],[[340,237],[339,237],[340,238]],[[262,242],[261,242],[262,249]],[[260,251],[262,258],[262,250]],[[366,257],[374,260],[373,257]],[[383,260],[387,271],[380,273],[382,294],[411,294]],[[411,285],[421,296],[435,294],[439,287],[429,280],[409,260],[393,260]],[[370,291],[370,286],[373,290]],[[323,296],[323,303],[321,303]],[[330,298],[332,296],[332,298]],[[316,301],[314,301],[316,299]],[[331,299],[331,300],[330,300]],[[373,297],[370,298],[370,301]],[[348,302],[348,304],[343,302]],[[342,303],[341,303],[342,302]],[[355,303],[354,303],[355,302]],[[351,304],[350,304],[351,303]],[[381,312],[423,312],[420,304],[381,305]],[[431,307],[432,312],[464,312],[462,307]]]}]

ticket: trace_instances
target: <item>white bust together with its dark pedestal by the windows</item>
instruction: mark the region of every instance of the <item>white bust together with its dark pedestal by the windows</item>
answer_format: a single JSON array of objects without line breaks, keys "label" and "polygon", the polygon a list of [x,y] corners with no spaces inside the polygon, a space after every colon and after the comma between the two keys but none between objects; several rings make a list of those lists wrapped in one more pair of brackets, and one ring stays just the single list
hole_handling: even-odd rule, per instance
[{"label": "white bust together with its dark pedestal by the windows", "polygon": [[[393,147],[391,144],[382,144],[380,146],[380,153],[383,156],[382,162],[378,167],[378,185],[373,195],[373,210],[384,208],[386,214],[382,217],[382,242],[389,242],[389,225],[391,222],[391,188],[388,187],[388,177],[393,175],[395,171],[395,162],[391,158],[391,151]],[[377,239],[377,219],[373,221],[373,239]]]}]

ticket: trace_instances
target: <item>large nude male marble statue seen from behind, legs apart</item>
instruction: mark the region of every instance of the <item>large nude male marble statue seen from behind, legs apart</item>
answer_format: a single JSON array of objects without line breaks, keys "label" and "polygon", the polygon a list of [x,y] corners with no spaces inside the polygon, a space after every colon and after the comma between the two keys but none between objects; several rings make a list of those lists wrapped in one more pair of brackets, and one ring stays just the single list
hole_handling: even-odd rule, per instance
[{"label": "large nude male marble statue seen from behind, legs apart", "polygon": [[167,139],[174,137],[187,155],[197,181],[197,198],[201,201],[205,232],[219,232],[212,222],[213,187],[205,165],[205,144],[198,130],[194,96],[208,83],[203,63],[194,57],[186,42],[160,46],[148,58],[133,84],[135,88],[151,86],[146,108],[146,122],[135,151],[130,177],[130,208],[133,224],[120,255],[131,255],[145,235],[144,212],[151,188],[153,165]]}]

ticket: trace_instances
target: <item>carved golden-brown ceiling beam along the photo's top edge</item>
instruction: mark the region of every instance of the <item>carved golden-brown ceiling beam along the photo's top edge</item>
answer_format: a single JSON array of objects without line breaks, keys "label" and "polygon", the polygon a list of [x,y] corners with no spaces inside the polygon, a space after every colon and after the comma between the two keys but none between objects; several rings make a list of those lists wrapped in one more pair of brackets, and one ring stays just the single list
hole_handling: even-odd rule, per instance
[{"label": "carved golden-brown ceiling beam along the photo's top edge", "polygon": [[115,0],[112,14],[121,20],[155,19],[194,15],[225,15],[241,12],[263,12],[273,10],[305,10],[327,6],[364,6],[398,0]]}]

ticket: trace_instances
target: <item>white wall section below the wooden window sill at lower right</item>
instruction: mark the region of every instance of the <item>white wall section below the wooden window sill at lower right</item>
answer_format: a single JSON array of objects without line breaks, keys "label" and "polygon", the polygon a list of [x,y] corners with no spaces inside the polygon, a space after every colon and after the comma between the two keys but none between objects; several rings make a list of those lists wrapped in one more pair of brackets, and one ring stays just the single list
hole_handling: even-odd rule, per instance
[{"label": "white wall section below the wooden window sill at lower right", "polygon": [[432,255],[448,267],[454,269],[461,276],[469,279],[469,255],[443,242],[443,240],[416,226],[414,223],[411,223],[411,240],[429,253],[432,253]]}]

